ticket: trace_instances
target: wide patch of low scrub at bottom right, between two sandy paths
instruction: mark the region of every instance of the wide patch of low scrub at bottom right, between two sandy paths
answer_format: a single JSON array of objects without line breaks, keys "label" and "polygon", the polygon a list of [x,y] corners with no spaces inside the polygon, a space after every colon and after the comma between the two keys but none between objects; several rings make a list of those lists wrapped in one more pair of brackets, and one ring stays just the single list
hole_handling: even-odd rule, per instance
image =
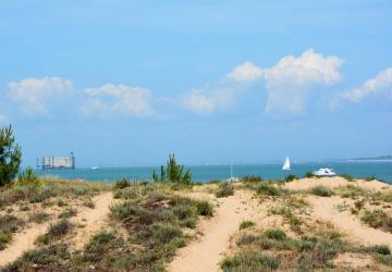
[{"label": "wide patch of low scrub at bottom right, between two sandy paths", "polygon": [[311,236],[291,238],[283,230],[269,228],[259,234],[244,234],[236,244],[236,252],[221,262],[223,271],[334,270],[332,260],[342,252],[388,252],[384,247],[355,247],[339,233],[322,230]]}]

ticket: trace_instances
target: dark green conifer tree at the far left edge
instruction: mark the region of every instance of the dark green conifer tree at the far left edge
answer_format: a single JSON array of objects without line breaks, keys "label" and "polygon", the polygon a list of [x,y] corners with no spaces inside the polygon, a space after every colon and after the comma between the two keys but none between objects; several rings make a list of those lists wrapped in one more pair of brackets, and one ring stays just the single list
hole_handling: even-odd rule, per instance
[{"label": "dark green conifer tree at the far left edge", "polygon": [[22,150],[14,141],[11,125],[0,129],[0,186],[15,178],[21,165]]}]

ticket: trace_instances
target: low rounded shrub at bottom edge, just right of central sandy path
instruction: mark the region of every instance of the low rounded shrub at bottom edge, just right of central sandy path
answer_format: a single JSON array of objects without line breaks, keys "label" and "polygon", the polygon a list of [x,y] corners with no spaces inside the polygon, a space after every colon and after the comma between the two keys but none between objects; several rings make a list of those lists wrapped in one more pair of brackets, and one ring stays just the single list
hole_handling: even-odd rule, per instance
[{"label": "low rounded shrub at bottom edge, just right of central sandy path", "polygon": [[246,250],[221,262],[223,271],[270,271],[279,268],[279,259],[259,251]]}]

